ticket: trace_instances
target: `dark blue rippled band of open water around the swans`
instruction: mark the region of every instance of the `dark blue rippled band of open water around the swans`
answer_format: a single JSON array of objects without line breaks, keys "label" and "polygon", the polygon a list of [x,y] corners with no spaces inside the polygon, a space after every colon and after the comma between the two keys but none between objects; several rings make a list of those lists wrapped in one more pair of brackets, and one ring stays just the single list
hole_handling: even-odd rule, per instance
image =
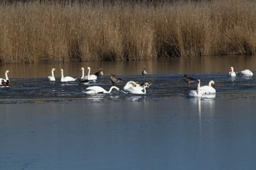
[{"label": "dark blue rippled band of open water around the swans", "polygon": [[[256,79],[254,77],[230,78],[226,73],[190,74],[191,77],[201,80],[201,86],[208,85],[210,80],[215,81],[215,99],[239,99],[256,97]],[[146,95],[127,95],[113,90],[111,94],[87,95],[82,93],[88,85],[78,85],[77,82],[61,83],[48,82],[45,78],[39,79],[11,79],[11,87],[0,88],[0,103],[15,102],[59,102],[59,101],[147,101],[147,100],[181,100],[188,98],[188,90],[196,89],[197,84],[190,87],[183,81],[183,74],[160,75],[125,75],[116,86],[123,88],[127,81],[150,82]],[[101,86],[106,90],[112,86],[109,76],[99,77],[97,82],[90,86]],[[212,98],[212,97],[210,97]],[[205,99],[205,98],[204,98]]]}]

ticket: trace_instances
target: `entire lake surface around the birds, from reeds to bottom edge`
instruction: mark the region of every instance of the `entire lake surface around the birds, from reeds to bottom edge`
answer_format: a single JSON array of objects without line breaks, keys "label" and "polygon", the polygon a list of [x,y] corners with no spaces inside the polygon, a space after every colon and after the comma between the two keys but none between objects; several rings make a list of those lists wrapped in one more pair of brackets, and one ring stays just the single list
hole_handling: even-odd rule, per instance
[{"label": "entire lake surface around the birds, from reeds to bottom edge", "polygon": [[[235,71],[256,74],[255,57],[141,62],[4,65],[12,86],[0,88],[0,169],[254,169],[256,79],[229,78]],[[46,77],[80,67],[105,75],[90,85],[111,86],[109,72],[127,81],[150,82],[146,95],[86,95],[86,85]],[[146,66],[149,75],[141,75]],[[184,74],[207,85],[216,97],[191,99]],[[85,72],[86,74],[86,72]],[[4,74],[2,75],[2,77]]]}]

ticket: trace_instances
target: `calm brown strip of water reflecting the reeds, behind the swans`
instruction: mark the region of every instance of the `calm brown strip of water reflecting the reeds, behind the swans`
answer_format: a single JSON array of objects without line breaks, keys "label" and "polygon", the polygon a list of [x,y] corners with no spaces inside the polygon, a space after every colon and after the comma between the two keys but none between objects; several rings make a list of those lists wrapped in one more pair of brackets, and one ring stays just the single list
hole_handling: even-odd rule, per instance
[{"label": "calm brown strip of water reflecting the reeds, behind the swans", "polygon": [[[103,69],[105,75],[114,72],[116,75],[141,74],[145,66],[149,74],[171,74],[171,73],[215,73],[228,72],[234,67],[234,71],[244,69],[256,70],[255,56],[221,56],[204,58],[184,58],[170,60],[144,60],[144,61],[117,61],[117,62],[72,62],[72,63],[36,63],[36,64],[6,64],[0,67],[0,75],[4,77],[4,71],[10,70],[10,78],[44,78],[51,75],[52,68],[64,69],[64,76],[81,76],[81,67],[90,67],[91,73],[99,68]],[[85,74],[87,72],[85,71]],[[56,77],[60,77],[59,72]]]}]

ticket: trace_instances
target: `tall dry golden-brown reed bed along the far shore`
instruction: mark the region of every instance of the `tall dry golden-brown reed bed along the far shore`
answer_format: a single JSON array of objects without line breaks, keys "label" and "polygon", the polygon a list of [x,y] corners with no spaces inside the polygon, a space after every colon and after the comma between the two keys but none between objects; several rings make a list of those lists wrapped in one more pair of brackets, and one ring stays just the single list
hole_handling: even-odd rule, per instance
[{"label": "tall dry golden-brown reed bed along the far shore", "polygon": [[0,7],[0,63],[256,54],[251,0],[23,0]]}]

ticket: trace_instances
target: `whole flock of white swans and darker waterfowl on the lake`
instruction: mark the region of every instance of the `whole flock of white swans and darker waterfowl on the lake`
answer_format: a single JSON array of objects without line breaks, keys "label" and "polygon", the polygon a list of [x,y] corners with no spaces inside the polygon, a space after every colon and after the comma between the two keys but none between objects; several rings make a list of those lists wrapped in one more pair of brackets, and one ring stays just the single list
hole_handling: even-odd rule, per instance
[{"label": "whole flock of white swans and darker waterfowl on the lake", "polygon": [[[90,67],[86,67],[86,70],[88,70],[88,74],[85,76],[84,75],[84,68],[80,68],[80,70],[82,71],[82,76],[81,77],[64,77],[64,70],[60,69],[60,74],[61,74],[61,78],[60,78],[60,82],[64,83],[64,82],[74,82],[74,81],[78,81],[79,85],[90,85],[91,82],[96,82],[97,80],[97,76],[100,77],[102,75],[104,75],[103,73],[103,69],[100,68],[98,72],[96,72],[95,74],[90,74]],[[51,82],[55,82],[55,76],[54,76],[54,72],[57,71],[55,68],[53,68],[51,70],[51,76],[47,77],[48,81]],[[0,86],[1,87],[9,87],[11,86],[10,80],[8,78],[8,74],[10,74],[11,72],[9,70],[5,71],[5,79],[4,78],[0,78]],[[143,67],[143,71],[141,73],[142,75],[147,75],[147,71],[145,70],[145,67]],[[246,69],[240,72],[235,72],[233,67],[229,68],[229,72],[228,72],[228,76],[229,77],[235,77],[236,75],[240,75],[240,76],[252,76],[253,73],[252,71]],[[146,88],[149,88],[151,83],[148,82],[144,82],[142,84],[139,84],[138,82],[135,81],[128,81],[125,86],[123,87],[123,89],[121,90],[119,87],[117,87],[116,85],[123,81],[121,78],[116,77],[115,73],[111,72],[110,73],[110,81],[112,82],[112,86],[110,87],[109,91],[105,90],[104,88],[100,87],[100,86],[89,86],[86,88],[85,91],[82,91],[85,94],[109,94],[112,92],[113,89],[119,91],[119,92],[123,92],[124,94],[146,94]],[[195,79],[195,78],[191,78],[188,77],[187,74],[184,74],[183,76],[183,81],[186,82],[190,88],[190,83],[193,82],[197,82],[197,89],[192,89],[192,90],[188,90],[187,93],[187,97],[193,97],[193,98],[201,98],[207,95],[216,95],[216,90],[214,88],[215,81],[210,80],[208,85],[205,86],[201,86],[201,82],[199,79]]]}]

